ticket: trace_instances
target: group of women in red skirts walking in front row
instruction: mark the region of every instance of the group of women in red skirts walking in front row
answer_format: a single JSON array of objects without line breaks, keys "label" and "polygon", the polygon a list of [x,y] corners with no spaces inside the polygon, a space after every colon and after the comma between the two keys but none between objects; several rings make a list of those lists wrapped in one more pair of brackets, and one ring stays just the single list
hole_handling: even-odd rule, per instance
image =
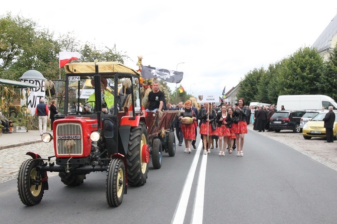
[{"label": "group of women in red skirts walking in front row", "polygon": [[[179,146],[185,141],[185,153],[191,153],[191,146],[196,149],[195,140],[197,136],[197,123],[200,121],[201,139],[203,141],[203,153],[211,153],[212,136],[218,137],[219,156],[225,155],[225,149],[228,145],[228,152],[231,154],[236,139],[237,156],[243,156],[244,135],[247,133],[246,117],[248,111],[244,106],[244,99],[239,98],[234,107],[221,104],[220,111],[212,107],[211,103],[201,105],[199,113],[196,113],[192,101],[187,100],[179,102],[179,109],[184,109],[179,113],[176,120],[176,134],[179,140]],[[183,124],[185,118],[191,118],[190,124]],[[193,121],[193,123],[191,122]],[[194,141],[194,142],[193,142]]]}]

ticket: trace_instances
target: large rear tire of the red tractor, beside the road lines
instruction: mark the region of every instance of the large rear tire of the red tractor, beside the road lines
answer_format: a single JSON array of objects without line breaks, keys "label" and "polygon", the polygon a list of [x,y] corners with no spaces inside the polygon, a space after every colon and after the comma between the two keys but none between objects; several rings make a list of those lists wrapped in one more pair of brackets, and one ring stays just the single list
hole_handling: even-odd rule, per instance
[{"label": "large rear tire of the red tractor, beside the road lines", "polygon": [[127,172],[128,184],[130,186],[142,186],[146,183],[148,164],[143,162],[142,148],[148,144],[147,129],[144,123],[140,122],[138,127],[132,127],[128,145]]}]

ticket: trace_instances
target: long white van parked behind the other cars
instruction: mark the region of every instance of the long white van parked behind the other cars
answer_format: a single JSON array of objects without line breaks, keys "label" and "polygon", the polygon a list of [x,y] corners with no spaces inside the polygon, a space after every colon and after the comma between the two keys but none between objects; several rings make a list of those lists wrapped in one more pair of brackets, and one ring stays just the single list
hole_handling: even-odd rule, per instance
[{"label": "long white van parked behind the other cars", "polygon": [[337,103],[327,95],[280,95],[277,100],[277,110],[285,109],[328,109],[333,106],[337,109]]}]

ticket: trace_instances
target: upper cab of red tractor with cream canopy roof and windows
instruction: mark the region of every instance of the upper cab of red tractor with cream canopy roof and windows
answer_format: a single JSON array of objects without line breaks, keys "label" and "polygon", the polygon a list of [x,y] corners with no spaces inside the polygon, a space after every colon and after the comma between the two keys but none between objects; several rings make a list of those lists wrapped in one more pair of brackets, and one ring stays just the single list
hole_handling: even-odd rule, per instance
[{"label": "upper cab of red tractor with cream canopy roof and windows", "polygon": [[141,109],[140,73],[136,70],[118,62],[68,63],[64,69],[64,114],[103,111],[116,115],[133,103],[134,110]]}]

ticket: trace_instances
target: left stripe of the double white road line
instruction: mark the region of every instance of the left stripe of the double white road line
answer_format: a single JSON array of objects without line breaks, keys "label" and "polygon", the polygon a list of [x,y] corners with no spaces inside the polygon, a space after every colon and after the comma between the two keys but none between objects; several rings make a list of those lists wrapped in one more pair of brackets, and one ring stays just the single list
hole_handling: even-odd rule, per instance
[{"label": "left stripe of the double white road line", "polygon": [[[195,171],[197,169],[198,160],[200,157],[200,151],[202,148],[202,144],[199,144],[198,149],[196,151],[196,154],[194,156],[189,174],[187,175],[187,178],[185,180],[183,191],[180,195],[178,206],[176,208],[175,214],[173,215],[172,222],[173,224],[180,224],[184,223],[184,218],[186,214],[187,204],[190,198],[191,188],[192,188],[192,182],[194,179]],[[207,155],[205,155],[207,156]]]}]

